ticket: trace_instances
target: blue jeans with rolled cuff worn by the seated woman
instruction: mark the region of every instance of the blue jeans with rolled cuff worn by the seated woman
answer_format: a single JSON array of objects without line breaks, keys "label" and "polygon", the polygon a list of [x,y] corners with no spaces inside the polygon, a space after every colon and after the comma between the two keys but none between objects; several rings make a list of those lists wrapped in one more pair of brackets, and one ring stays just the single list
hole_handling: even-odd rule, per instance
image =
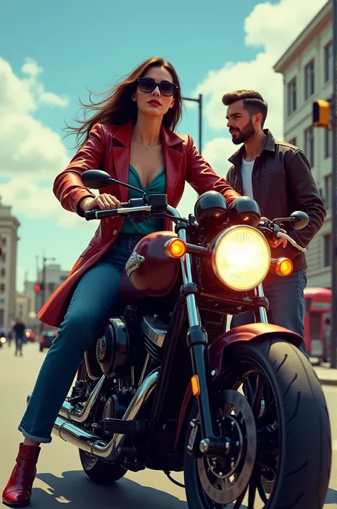
[{"label": "blue jeans with rolled cuff worn by the seated woman", "polygon": [[26,438],[41,443],[51,441],[53,425],[85,351],[105,320],[117,310],[122,272],[139,239],[119,235],[78,282],[18,427]]}]

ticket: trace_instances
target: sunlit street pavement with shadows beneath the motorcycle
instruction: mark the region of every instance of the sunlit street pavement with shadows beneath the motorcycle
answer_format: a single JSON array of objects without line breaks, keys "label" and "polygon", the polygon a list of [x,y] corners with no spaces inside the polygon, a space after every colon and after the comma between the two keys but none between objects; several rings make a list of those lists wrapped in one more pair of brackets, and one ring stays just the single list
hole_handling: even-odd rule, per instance
[{"label": "sunlit street pavement with shadows beneath the motorcycle", "polygon": [[[14,466],[21,440],[17,426],[26,406],[26,396],[33,388],[45,356],[46,353],[38,351],[38,344],[26,345],[23,357],[14,356],[13,346],[8,348],[5,345],[0,349],[1,491]],[[331,483],[324,509],[337,509],[337,386],[323,385],[323,391],[331,418],[334,449]],[[173,477],[183,482],[181,473],[173,473]],[[161,472],[128,473],[111,488],[91,483],[82,472],[78,451],[54,437],[53,442],[41,451],[32,507],[60,509],[61,503],[70,504],[72,509],[188,509],[184,490],[171,483]],[[255,509],[262,507],[262,503],[255,505]]]}]

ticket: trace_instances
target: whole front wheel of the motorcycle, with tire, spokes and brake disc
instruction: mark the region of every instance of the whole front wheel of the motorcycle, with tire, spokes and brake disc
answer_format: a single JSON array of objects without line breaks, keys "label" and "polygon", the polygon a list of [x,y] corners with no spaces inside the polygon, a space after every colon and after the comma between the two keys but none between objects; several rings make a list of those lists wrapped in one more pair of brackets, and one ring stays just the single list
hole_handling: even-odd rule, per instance
[{"label": "whole front wheel of the motorcycle, with tire, spokes and brake disc", "polygon": [[[188,453],[200,441],[198,408],[186,433],[191,509],[321,509],[331,469],[326,401],[310,362],[279,339],[233,344],[212,394],[221,457]],[[196,431],[198,430],[198,431]]]}]

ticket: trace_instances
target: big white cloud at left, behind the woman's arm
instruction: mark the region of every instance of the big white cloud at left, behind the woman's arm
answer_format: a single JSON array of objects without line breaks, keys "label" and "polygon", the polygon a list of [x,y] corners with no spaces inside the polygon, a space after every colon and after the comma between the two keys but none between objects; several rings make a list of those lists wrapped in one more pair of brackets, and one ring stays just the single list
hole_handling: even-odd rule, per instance
[{"label": "big white cloud at left, behind the woman's arm", "polygon": [[70,159],[65,145],[33,116],[42,106],[66,106],[68,98],[45,91],[38,81],[43,68],[32,58],[26,58],[21,71],[20,78],[0,58],[0,173],[8,180],[0,185],[3,202],[28,217],[43,215],[62,225],[80,224],[75,214],[60,210],[52,191],[55,175]]}]

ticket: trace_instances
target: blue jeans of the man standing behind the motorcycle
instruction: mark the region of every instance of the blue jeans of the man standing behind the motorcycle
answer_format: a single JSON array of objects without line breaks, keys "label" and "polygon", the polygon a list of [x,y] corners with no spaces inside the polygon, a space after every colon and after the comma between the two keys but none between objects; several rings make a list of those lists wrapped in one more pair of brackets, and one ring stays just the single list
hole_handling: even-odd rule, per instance
[{"label": "blue jeans of the man standing behind the motorcycle", "polygon": [[[306,287],[306,269],[297,270],[288,277],[271,274],[263,283],[264,294],[269,300],[268,321],[285,327],[304,338],[304,289]],[[255,322],[252,312],[232,317],[230,327]],[[301,350],[305,351],[303,341]]]}]

